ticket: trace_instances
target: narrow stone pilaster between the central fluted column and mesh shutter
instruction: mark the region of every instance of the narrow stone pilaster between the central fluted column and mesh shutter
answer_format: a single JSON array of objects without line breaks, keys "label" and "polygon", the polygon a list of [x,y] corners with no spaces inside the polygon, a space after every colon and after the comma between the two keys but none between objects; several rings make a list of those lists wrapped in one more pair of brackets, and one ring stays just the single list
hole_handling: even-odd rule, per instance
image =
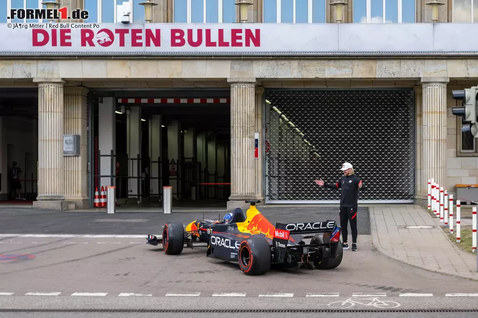
[{"label": "narrow stone pilaster between the central fluted column and mesh shutter", "polygon": [[264,135],[263,135],[263,112],[264,112],[264,88],[263,87],[256,87],[256,104],[255,104],[255,112],[256,112],[256,130],[255,133],[259,133],[259,159],[254,159],[254,171],[255,171],[255,179],[256,179],[256,198],[261,201],[261,204],[264,203],[264,195],[262,190],[262,167],[264,165]]}]

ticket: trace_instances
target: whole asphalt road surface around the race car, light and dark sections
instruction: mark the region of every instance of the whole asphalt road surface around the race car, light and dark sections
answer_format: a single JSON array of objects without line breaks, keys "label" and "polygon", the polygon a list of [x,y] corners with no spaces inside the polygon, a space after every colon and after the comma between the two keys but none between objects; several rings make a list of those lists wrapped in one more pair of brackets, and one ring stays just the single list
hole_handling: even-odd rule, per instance
[{"label": "whole asphalt road surface around the race car, light and dark sections", "polygon": [[[338,220],[336,209],[321,208],[317,212],[310,208],[262,209],[262,212],[272,221],[299,222],[310,220],[311,216],[315,219],[315,215],[319,220]],[[237,264],[206,258],[205,247],[185,248],[179,256],[168,256],[161,247],[145,244],[145,238],[48,237],[52,232],[146,235],[158,224],[163,224],[165,218],[191,220],[194,216],[191,213],[165,216],[155,213],[74,214],[31,209],[0,211],[0,232],[3,233],[0,236],[0,318],[158,317],[160,310],[169,311],[162,313],[164,316],[179,318],[258,315],[217,312],[223,309],[478,309],[478,282],[406,266],[378,253],[371,244],[371,237],[366,235],[370,233],[370,226],[365,223],[369,222],[366,209],[359,211],[359,233],[362,233],[358,240],[359,251],[345,250],[340,266],[329,271],[300,269],[295,272],[273,268],[266,275],[249,277]],[[131,219],[147,221],[128,221]],[[5,233],[46,235],[8,237]],[[43,296],[45,293],[49,296]],[[453,293],[456,297],[451,297]],[[9,309],[24,312],[7,312]],[[84,312],[28,312],[40,309]],[[98,311],[88,311],[92,309]],[[119,309],[130,312],[113,312]],[[138,312],[148,309],[152,312]],[[208,311],[173,311],[197,309]],[[385,315],[464,318],[477,317],[477,313]],[[264,312],[261,315],[352,318],[383,317],[384,313]]]}]

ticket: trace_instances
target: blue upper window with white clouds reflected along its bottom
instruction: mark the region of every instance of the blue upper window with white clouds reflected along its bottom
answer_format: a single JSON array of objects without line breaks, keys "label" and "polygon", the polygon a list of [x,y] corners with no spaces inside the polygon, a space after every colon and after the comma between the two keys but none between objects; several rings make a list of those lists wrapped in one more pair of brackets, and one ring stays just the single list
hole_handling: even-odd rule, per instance
[{"label": "blue upper window with white clouds reflected along its bottom", "polygon": [[354,23],[414,23],[415,0],[354,0]]}]

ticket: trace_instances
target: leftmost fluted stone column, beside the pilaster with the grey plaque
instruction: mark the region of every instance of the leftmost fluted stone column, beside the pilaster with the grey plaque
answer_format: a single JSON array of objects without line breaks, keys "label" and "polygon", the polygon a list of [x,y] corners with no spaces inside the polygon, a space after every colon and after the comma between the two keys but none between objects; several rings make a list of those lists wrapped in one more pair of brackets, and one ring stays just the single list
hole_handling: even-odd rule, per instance
[{"label": "leftmost fluted stone column, beside the pilaster with the grey plaque", "polygon": [[64,210],[63,80],[38,82],[38,197],[33,207]]}]

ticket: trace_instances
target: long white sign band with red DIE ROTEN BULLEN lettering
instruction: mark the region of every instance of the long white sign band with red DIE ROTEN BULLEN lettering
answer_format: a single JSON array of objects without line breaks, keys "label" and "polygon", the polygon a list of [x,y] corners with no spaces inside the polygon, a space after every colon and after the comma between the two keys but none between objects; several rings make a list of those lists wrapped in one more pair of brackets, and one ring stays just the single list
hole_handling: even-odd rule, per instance
[{"label": "long white sign band with red DIE ROTEN BULLEN lettering", "polygon": [[[473,31],[475,30],[475,31]],[[477,23],[0,23],[0,55],[478,52]]]}]

